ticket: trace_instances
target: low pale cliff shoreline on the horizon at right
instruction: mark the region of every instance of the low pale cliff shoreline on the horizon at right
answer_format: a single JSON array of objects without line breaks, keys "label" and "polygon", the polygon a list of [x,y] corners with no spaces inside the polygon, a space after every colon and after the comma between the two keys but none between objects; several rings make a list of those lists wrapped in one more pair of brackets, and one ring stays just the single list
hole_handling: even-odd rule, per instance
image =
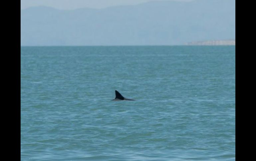
[{"label": "low pale cliff shoreline on the horizon at right", "polygon": [[193,41],[186,45],[235,45],[236,40],[208,40],[208,41]]}]

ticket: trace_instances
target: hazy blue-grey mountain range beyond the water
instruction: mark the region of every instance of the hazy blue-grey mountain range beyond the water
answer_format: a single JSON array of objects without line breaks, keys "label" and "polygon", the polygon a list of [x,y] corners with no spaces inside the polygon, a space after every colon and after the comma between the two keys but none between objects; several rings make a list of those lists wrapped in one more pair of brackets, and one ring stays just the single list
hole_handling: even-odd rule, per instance
[{"label": "hazy blue-grey mountain range beyond the water", "polygon": [[21,45],[179,45],[235,39],[235,0],[21,10]]}]

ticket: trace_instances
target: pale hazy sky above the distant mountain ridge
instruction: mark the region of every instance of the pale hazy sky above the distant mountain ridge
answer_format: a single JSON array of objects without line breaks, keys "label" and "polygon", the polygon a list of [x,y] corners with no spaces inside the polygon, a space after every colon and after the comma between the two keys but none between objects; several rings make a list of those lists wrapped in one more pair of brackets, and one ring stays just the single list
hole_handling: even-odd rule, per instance
[{"label": "pale hazy sky above the distant mountain ridge", "polygon": [[[152,0],[21,0],[21,10],[33,6],[49,6],[63,10],[77,8],[106,8],[118,5],[136,5]],[[160,0],[153,0],[160,1]],[[175,0],[191,1],[191,0]]]}]

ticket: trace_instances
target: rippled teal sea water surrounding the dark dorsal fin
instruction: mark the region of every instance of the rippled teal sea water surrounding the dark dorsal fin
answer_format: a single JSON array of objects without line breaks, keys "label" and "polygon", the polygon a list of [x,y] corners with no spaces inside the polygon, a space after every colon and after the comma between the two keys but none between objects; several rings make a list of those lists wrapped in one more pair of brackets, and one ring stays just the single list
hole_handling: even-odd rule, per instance
[{"label": "rippled teal sea water surrounding the dark dorsal fin", "polygon": [[235,46],[21,47],[21,160],[234,161]]}]

